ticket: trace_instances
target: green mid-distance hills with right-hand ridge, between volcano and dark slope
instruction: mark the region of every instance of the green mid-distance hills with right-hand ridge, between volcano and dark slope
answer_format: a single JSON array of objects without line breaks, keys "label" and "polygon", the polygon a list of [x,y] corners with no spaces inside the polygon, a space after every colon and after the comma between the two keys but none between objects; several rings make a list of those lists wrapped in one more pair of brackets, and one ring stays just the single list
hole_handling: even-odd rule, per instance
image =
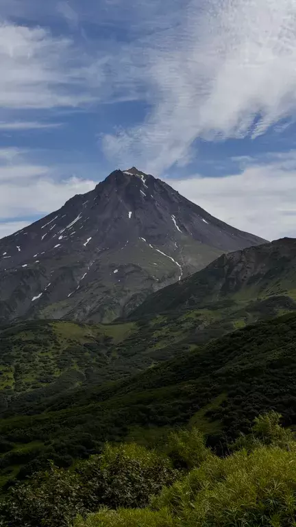
[{"label": "green mid-distance hills with right-hand ridge, between volcano and dark slope", "polygon": [[225,333],[296,311],[296,240],[214,261],[153,294],[129,320],[29,320],[0,327],[0,410],[34,412],[76,386],[102,385]]}]

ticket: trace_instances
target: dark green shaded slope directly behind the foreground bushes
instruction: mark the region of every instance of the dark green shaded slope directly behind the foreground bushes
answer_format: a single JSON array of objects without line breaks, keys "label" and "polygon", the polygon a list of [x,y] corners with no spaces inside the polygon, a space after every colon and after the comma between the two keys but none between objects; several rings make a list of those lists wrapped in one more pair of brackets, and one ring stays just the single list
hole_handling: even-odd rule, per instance
[{"label": "dark green shaded slope directly behind the foreground bushes", "polygon": [[264,410],[275,408],[295,424],[295,338],[295,315],[264,321],[130,379],[74,390],[40,414],[2,419],[1,441],[10,442],[0,457],[2,476],[14,476],[16,466],[24,476],[48,457],[69,464],[106,439],[144,431],[142,441],[153,441],[184,423],[198,425],[210,444],[223,448],[226,431],[234,437],[248,430]]}]

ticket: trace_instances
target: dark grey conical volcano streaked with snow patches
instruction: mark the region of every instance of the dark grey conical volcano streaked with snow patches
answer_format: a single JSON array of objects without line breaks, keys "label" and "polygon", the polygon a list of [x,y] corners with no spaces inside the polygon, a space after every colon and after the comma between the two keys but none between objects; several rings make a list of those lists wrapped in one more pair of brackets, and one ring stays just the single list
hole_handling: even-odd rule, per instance
[{"label": "dark grey conical volcano streaked with snow patches", "polygon": [[222,253],[264,240],[135,167],[0,240],[0,321],[108,322]]}]

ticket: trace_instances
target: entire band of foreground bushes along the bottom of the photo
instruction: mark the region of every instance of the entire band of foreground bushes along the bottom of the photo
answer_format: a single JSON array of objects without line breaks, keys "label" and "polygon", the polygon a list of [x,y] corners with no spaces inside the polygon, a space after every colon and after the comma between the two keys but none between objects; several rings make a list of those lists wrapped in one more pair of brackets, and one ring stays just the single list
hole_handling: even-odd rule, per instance
[{"label": "entire band of foreground bushes along the bottom of the photo", "polygon": [[167,452],[190,471],[138,445],[106,445],[75,471],[52,466],[12,489],[0,526],[295,526],[296,442],[279,419],[256,419],[246,447],[225,458],[197,430],[171,435]]}]

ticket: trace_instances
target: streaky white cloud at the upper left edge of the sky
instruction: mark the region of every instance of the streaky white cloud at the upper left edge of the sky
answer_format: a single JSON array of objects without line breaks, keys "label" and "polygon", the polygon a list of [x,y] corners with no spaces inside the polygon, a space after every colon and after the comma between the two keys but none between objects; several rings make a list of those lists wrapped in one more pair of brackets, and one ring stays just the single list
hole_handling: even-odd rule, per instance
[{"label": "streaky white cloud at the upper left edge of the sky", "polygon": [[[85,61],[85,58],[84,58]],[[88,62],[86,62],[88,64]],[[93,100],[69,38],[41,27],[0,25],[0,107],[54,108]]]}]

